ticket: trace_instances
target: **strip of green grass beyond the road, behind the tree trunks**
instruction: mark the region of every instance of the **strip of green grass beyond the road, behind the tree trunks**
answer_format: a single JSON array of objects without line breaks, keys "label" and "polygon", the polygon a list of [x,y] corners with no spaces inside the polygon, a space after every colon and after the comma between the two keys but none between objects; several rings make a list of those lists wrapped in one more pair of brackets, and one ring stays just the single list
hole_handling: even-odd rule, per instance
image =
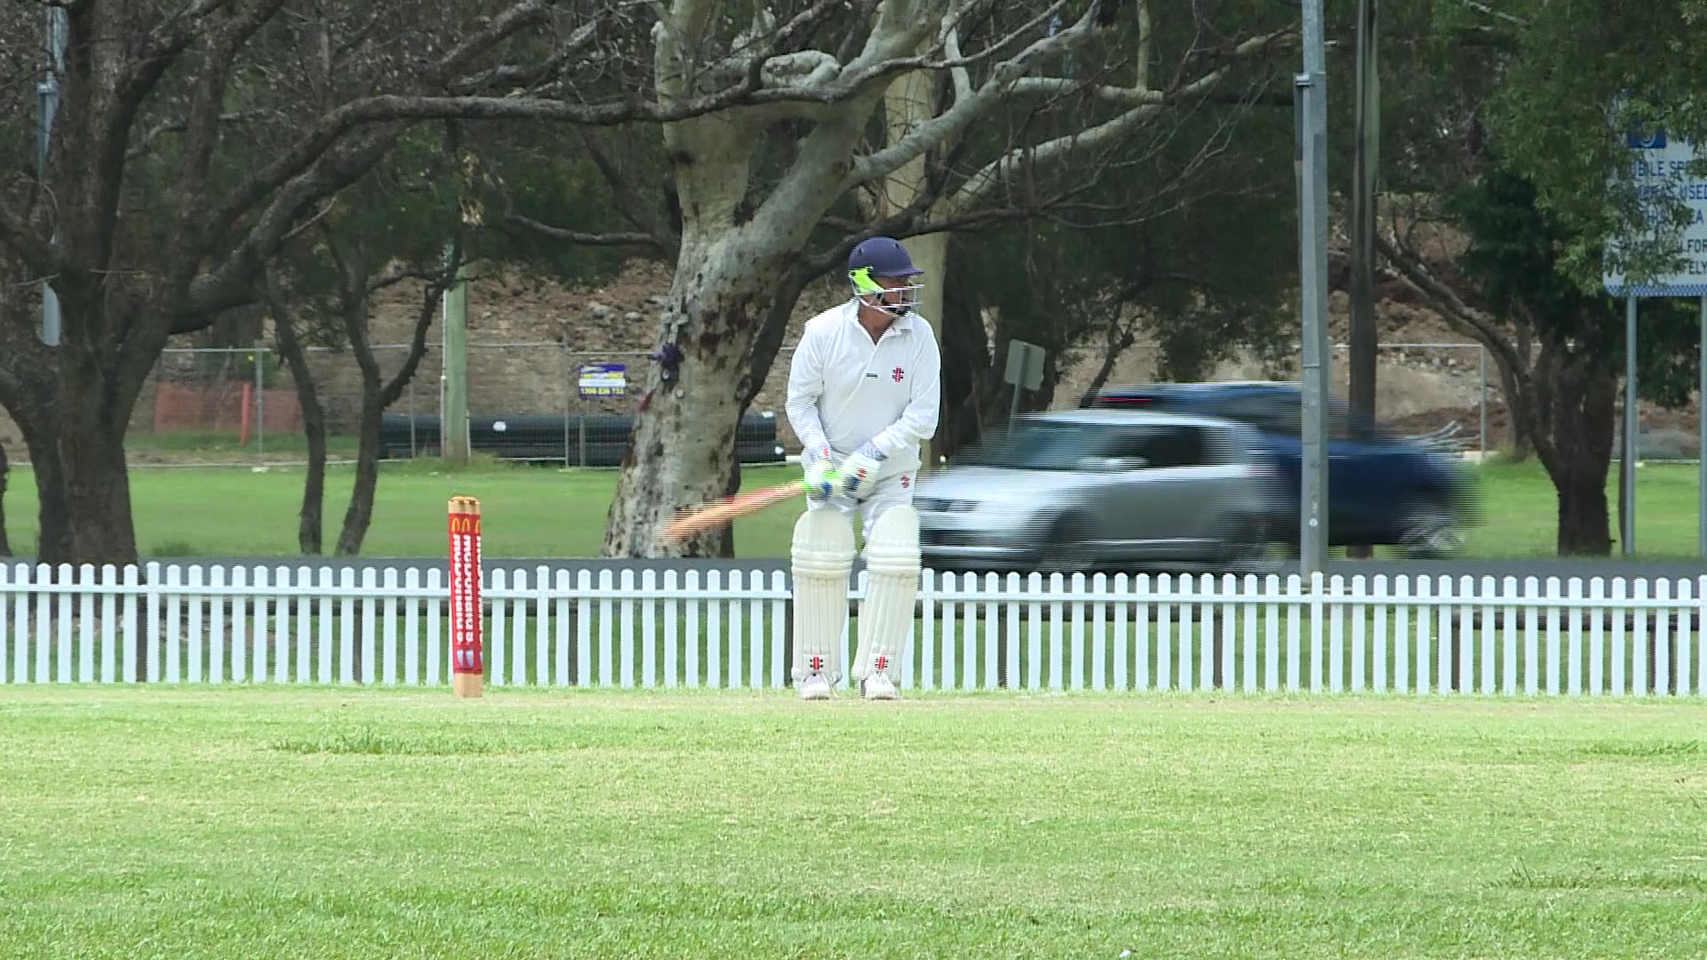
[{"label": "strip of green grass beyond the road, behind the tree trunks", "polygon": [[[792,480],[794,466],[756,466],[748,489]],[[326,543],[336,541],[353,471],[328,475]],[[1651,465],[1639,471],[1637,548],[1642,557],[1695,557],[1693,465]],[[446,500],[480,497],[488,557],[592,557],[604,536],[613,470],[486,465],[444,471],[437,461],[387,463],[365,555],[434,557],[446,550]],[[12,543],[29,552],[36,540],[36,489],[27,470],[12,471],[5,497]],[[1471,557],[1550,557],[1557,499],[1536,463],[1482,470],[1487,521],[1468,538]],[[1617,502],[1617,471],[1608,480]],[[157,468],[131,471],[137,545],[152,557],[295,555],[300,468]],[[785,557],[799,514],[785,504],[736,524],[743,557]]]}]

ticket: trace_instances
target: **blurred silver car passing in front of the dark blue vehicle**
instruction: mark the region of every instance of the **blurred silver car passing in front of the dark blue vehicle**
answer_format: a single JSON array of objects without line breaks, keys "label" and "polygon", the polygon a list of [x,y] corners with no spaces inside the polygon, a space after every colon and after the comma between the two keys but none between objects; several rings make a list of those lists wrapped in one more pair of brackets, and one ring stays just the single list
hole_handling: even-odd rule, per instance
[{"label": "blurred silver car passing in front of the dark blue vehicle", "polygon": [[1268,548],[1280,473],[1243,424],[1075,410],[1021,419],[918,483],[930,569],[1241,565]]}]

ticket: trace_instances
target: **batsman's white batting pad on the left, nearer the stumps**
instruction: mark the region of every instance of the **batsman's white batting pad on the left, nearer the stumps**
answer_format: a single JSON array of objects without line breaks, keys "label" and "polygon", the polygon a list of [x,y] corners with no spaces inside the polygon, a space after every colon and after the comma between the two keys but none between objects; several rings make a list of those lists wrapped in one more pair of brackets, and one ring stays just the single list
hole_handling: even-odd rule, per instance
[{"label": "batsman's white batting pad on the left, nearer the stumps", "polygon": [[842,634],[848,622],[854,524],[840,511],[806,511],[794,524],[794,683],[823,673],[842,680]]}]

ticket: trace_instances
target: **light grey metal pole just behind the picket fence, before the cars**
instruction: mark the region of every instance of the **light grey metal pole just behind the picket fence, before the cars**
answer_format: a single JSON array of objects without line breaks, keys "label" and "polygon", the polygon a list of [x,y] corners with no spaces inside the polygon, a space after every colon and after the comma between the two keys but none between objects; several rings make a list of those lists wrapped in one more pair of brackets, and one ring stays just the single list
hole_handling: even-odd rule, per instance
[{"label": "light grey metal pole just behind the picket fence, before the cars", "polygon": [[1299,490],[1299,572],[1328,560],[1328,73],[1321,0],[1304,0],[1304,72],[1292,79],[1297,113],[1299,287],[1302,292],[1304,456]]}]

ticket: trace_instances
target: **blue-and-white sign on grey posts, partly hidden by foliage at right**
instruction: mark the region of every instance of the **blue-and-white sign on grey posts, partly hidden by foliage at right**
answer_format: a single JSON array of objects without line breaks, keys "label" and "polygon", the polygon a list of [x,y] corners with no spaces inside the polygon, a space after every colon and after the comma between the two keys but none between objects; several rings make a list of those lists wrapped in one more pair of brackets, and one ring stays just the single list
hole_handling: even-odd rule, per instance
[{"label": "blue-and-white sign on grey posts, partly hidden by foliage at right", "polygon": [[[1635,553],[1635,441],[1637,441],[1637,379],[1635,379],[1635,301],[1639,297],[1700,297],[1700,384],[1698,384],[1698,442],[1697,449],[1697,548],[1707,557],[1707,179],[1690,173],[1695,161],[1695,145],[1685,140],[1666,137],[1664,130],[1651,135],[1632,133],[1625,145],[1630,149],[1632,174],[1637,184],[1637,196],[1646,202],[1659,202],[1673,196],[1681,200],[1688,210],[1688,222],[1678,236],[1681,261],[1678,266],[1646,282],[1627,284],[1623,272],[1606,266],[1601,277],[1606,292],[1625,299],[1623,342],[1623,477],[1618,489],[1618,519],[1622,531],[1622,552],[1625,557]],[[1617,244],[1610,244],[1617,248]]]}]

